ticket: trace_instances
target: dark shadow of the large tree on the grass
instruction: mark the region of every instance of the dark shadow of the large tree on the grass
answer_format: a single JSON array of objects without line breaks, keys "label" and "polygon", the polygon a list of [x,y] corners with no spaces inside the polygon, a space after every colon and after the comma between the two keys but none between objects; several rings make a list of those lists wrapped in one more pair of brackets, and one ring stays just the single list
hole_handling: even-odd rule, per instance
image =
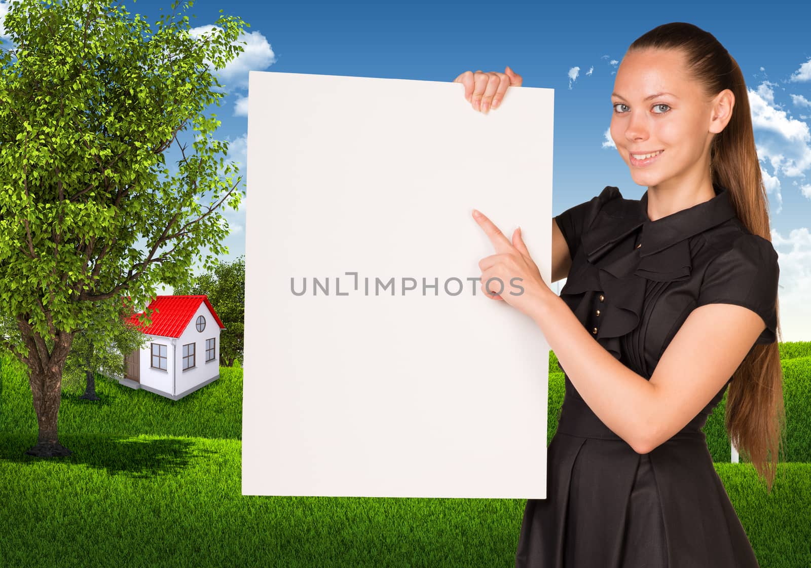
[{"label": "dark shadow of the large tree on the grass", "polygon": [[73,453],[63,458],[37,458],[25,453],[36,445],[36,436],[0,435],[0,464],[75,464],[109,475],[152,479],[177,476],[195,461],[218,454],[194,440],[176,437],[60,436],[59,442]]}]

